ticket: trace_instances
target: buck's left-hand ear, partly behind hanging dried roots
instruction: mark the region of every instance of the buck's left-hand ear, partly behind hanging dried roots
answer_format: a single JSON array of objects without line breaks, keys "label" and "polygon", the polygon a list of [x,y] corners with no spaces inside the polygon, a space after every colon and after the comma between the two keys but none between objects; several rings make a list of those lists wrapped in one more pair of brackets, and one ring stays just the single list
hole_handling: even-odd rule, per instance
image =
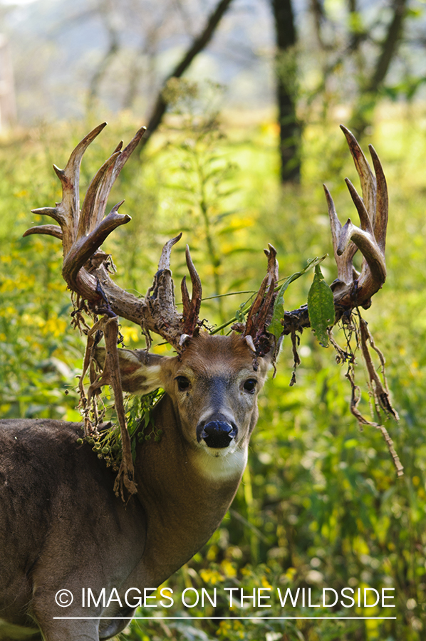
[{"label": "buck's left-hand ear, partly behind hanging dried roots", "polygon": [[[145,350],[118,350],[121,385],[124,392],[144,395],[164,387],[162,363],[167,357],[151,354]],[[97,347],[95,360],[100,367],[105,363],[105,348]]]}]

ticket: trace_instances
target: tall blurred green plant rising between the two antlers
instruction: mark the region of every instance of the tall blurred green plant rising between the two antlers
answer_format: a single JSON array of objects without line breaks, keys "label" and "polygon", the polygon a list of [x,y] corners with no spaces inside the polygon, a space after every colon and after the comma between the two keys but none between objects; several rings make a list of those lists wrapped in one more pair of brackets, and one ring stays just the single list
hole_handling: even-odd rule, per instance
[{"label": "tall blurred green plant rising between the two antlers", "polygon": [[[168,187],[182,204],[184,227],[191,232],[194,243],[204,240],[214,287],[212,295],[217,296],[218,316],[223,323],[221,294],[226,285],[219,241],[230,231],[229,219],[238,212],[232,207],[237,166],[224,150],[225,135],[217,100],[220,91],[221,87],[214,83],[200,86],[172,78],[164,95],[177,118],[172,142],[175,162],[170,168],[173,179]],[[235,230],[238,225],[233,222],[233,226]],[[231,246],[228,253],[233,251],[236,248]]]}]

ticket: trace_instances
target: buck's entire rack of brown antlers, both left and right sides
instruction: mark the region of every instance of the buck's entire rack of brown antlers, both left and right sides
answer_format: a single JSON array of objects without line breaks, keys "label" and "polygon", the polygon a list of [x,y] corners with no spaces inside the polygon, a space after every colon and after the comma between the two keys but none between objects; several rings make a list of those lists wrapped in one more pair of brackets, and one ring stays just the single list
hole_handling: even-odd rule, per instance
[{"label": "buck's entire rack of brown antlers, both left and right sides", "polygon": [[[177,312],[170,270],[170,251],[180,236],[165,244],[154,282],[144,299],[136,298],[115,284],[108,273],[108,256],[99,249],[116,227],[130,221],[127,214],[118,213],[123,202],[116,204],[106,217],[104,217],[105,207],[115,179],[135,150],[145,132],[144,128],[137,132],[124,150],[120,143],[100,167],[90,183],[80,212],[78,193],[80,162],[85,150],[104,127],[105,123],[83,138],[72,152],[65,170],[55,167],[63,189],[61,202],[56,204],[56,207],[33,209],[36,214],[51,216],[58,224],[32,227],[24,236],[49,234],[62,240],[63,277],[72,291],[76,292],[82,300],[88,301],[88,306],[94,313],[106,311],[110,315],[123,316],[142,327],[148,344],[150,343],[149,332],[152,331],[160,334],[180,352],[184,349],[186,338],[197,331],[202,298],[201,282],[187,249],[192,298],[189,299],[184,278],[181,286],[183,314]],[[388,192],[383,169],[375,150],[370,145],[374,175],[353,134],[346,127],[342,126],[341,129],[346,135],[360,177],[363,198],[358,196],[352,183],[347,179],[346,184],[360,217],[360,226],[355,226],[350,219],[342,226],[338,220],[333,199],[328,189],[324,187],[334,255],[338,266],[338,278],[332,284],[337,319],[355,306],[368,307],[371,296],[385,282],[385,236],[388,222]],[[358,249],[363,254],[360,273],[353,267],[353,256]],[[246,340],[253,346],[257,355],[264,355],[269,351],[266,328],[273,313],[278,281],[276,251],[271,245],[269,250],[265,251],[268,256],[266,276],[251,306],[245,326],[239,328],[244,332]],[[286,312],[283,324],[284,334],[309,327],[307,307],[302,306],[297,310]]]}]

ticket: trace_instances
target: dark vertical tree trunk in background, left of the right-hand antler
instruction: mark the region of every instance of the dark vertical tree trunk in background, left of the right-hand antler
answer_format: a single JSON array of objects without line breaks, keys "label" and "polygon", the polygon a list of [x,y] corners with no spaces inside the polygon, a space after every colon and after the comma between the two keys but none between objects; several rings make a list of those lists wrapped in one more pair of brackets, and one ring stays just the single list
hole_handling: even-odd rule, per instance
[{"label": "dark vertical tree trunk in background, left of the right-hand antler", "polygon": [[300,180],[301,125],[296,117],[296,28],[291,0],[271,0],[276,33],[276,98],[281,182]]}]

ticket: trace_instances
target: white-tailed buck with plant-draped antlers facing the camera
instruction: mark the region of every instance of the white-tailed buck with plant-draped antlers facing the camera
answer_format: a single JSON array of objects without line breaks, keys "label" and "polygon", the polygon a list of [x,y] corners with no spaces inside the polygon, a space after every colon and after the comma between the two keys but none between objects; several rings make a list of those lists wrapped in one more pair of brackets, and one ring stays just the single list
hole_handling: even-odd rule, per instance
[{"label": "white-tailed buck with plant-draped antlers facing the camera", "polygon": [[[85,369],[93,375],[86,400],[90,402],[105,383],[113,385],[118,396],[120,387],[140,395],[161,387],[165,395],[155,405],[153,419],[162,429],[162,439],[136,441],[133,469],[124,438],[117,484],[116,474],[88,439],[81,440],[90,424],[0,422],[0,640],[95,641],[123,630],[136,605],[137,593],[130,588],[143,594],[144,588],[160,585],[222,521],[246,465],[258,418],[257,395],[276,356],[276,339],[268,331],[278,282],[271,246],[266,251],[267,273],[246,321],[227,336],[210,335],[199,322],[202,288],[189,251],[192,296],[184,279],[182,313],[175,308],[170,252],[180,236],[165,245],[145,298],[136,298],[110,278],[108,255],[99,248],[130,217],[118,213],[120,205],[105,216],[105,206],[143,130],[100,168],[80,210],[80,160],[103,127],[80,142],[65,170],[55,167],[62,200],[35,212],[47,214],[56,224],[33,227],[26,234],[62,240],[63,277],[76,293],[77,308],[85,306],[92,313],[105,337],[105,348],[97,345],[99,331],[88,340]],[[336,318],[355,306],[368,306],[383,285],[388,219],[385,177],[377,155],[370,149],[373,175],[353,135],[344,132],[363,199],[348,182],[360,227],[350,221],[341,226],[326,192],[338,265],[333,283]],[[363,254],[360,273],[352,265],[357,248]],[[150,332],[159,334],[177,355],[117,351],[117,316],[140,326],[148,342]],[[286,312],[282,325],[283,334],[307,327],[306,306]],[[120,407],[117,412],[123,417]],[[120,496],[123,492],[126,501]],[[98,605],[92,600],[88,607],[82,603],[83,588],[93,595],[105,590],[109,603],[99,598]],[[67,608],[63,606],[71,597],[60,590],[73,595]]]}]

